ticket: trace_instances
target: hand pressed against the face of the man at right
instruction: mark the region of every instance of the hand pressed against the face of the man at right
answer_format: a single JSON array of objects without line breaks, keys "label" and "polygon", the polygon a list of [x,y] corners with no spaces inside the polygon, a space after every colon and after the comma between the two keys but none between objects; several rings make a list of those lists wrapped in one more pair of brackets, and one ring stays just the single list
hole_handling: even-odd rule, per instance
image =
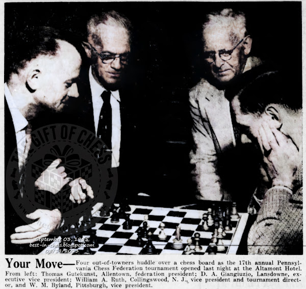
[{"label": "hand pressed against the face of the man at right", "polygon": [[299,152],[292,140],[275,127],[263,123],[259,128],[258,142],[272,186],[293,188],[295,172],[300,163]]}]

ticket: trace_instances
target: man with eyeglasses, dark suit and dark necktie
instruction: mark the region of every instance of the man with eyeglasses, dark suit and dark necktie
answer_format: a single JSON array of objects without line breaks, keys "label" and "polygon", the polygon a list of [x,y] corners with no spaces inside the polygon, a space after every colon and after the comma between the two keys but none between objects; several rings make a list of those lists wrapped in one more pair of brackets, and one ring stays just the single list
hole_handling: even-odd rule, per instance
[{"label": "man with eyeglasses, dark suit and dark necktie", "polygon": [[[80,125],[91,130],[109,151],[111,167],[118,172],[119,184],[127,180],[135,149],[133,85],[127,81],[130,63],[132,24],[116,11],[93,15],[87,22],[87,41],[83,42],[90,62],[87,77],[80,85],[82,113]],[[132,162],[133,163],[133,162]],[[126,187],[126,186],[125,186]],[[119,190],[119,189],[118,189]]]}]

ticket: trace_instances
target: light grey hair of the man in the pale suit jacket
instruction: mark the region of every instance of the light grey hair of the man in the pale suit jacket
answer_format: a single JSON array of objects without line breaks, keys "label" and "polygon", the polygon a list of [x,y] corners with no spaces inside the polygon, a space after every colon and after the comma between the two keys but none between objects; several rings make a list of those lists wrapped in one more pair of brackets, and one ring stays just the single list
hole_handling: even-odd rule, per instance
[{"label": "light grey hair of the man in the pale suit jacket", "polygon": [[233,9],[223,9],[207,14],[202,29],[205,31],[209,27],[220,30],[231,29],[230,39],[233,43],[248,35],[245,14]]}]

